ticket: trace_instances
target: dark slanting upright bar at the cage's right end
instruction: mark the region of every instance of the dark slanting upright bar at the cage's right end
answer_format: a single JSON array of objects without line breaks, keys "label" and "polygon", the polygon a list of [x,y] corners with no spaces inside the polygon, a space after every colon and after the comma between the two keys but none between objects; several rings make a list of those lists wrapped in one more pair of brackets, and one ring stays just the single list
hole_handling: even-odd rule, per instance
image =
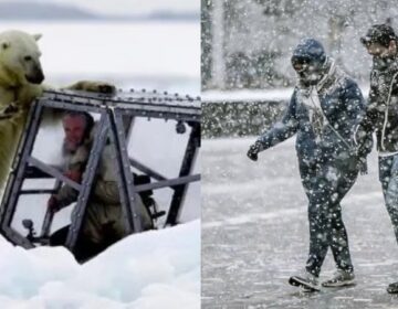
[{"label": "dark slanting upright bar at the cage's right end", "polygon": [[[192,130],[189,135],[186,152],[179,172],[179,178],[189,175],[191,173],[199,147],[200,147],[200,125],[197,124],[192,126]],[[188,183],[175,188],[175,192],[172,194],[170,209],[167,214],[165,225],[176,225],[178,223],[181,212],[181,204],[184,203],[187,190],[188,190]]]}]

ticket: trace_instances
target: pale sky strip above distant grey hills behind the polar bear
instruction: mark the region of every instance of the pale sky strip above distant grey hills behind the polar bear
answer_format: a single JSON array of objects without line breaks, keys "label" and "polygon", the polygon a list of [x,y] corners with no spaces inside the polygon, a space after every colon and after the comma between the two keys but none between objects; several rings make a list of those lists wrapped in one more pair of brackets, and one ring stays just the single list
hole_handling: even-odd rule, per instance
[{"label": "pale sky strip above distant grey hills behind the polar bear", "polygon": [[[62,3],[105,14],[143,14],[153,11],[200,11],[200,0],[30,0],[30,2]],[[27,2],[27,0],[0,0],[0,2]]]}]

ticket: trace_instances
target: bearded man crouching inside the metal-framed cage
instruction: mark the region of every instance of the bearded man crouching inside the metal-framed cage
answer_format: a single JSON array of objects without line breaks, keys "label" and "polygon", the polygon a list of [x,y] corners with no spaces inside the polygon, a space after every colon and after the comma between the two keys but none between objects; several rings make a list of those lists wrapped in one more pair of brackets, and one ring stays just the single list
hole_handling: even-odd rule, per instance
[{"label": "bearded man crouching inside the metal-framed cage", "polygon": [[[62,147],[63,173],[80,183],[90,157],[93,143],[94,119],[88,113],[69,111],[63,119],[64,141]],[[127,235],[123,220],[119,191],[117,187],[113,148],[107,143],[101,156],[98,168],[94,177],[91,195],[88,198],[85,219],[73,254],[77,260],[84,260],[98,254],[113,243]],[[48,201],[51,212],[76,202],[78,192],[64,184]],[[153,228],[150,214],[140,196],[137,196],[137,212],[142,220],[143,230]],[[69,232],[65,226],[50,237],[50,245],[64,245]]]}]

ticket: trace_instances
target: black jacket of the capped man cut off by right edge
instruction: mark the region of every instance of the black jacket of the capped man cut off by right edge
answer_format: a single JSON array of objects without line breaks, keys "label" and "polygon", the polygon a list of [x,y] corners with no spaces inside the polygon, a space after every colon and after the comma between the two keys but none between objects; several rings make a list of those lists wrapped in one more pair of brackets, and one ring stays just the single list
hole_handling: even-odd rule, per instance
[{"label": "black jacket of the capped man cut off by right edge", "polygon": [[374,60],[369,104],[359,131],[376,131],[377,150],[398,151],[398,55]]}]

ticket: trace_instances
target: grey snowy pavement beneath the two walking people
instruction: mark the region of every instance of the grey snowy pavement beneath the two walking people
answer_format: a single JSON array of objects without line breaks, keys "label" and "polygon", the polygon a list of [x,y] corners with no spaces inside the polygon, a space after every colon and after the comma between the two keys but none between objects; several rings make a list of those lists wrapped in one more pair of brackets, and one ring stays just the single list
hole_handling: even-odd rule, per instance
[{"label": "grey snowy pavement beneath the two walking people", "polygon": [[[303,294],[287,284],[308,249],[306,198],[294,140],[245,157],[254,138],[202,142],[202,308],[398,308],[398,245],[384,206],[377,157],[343,200],[357,285]],[[331,253],[321,274],[334,271]]]}]

